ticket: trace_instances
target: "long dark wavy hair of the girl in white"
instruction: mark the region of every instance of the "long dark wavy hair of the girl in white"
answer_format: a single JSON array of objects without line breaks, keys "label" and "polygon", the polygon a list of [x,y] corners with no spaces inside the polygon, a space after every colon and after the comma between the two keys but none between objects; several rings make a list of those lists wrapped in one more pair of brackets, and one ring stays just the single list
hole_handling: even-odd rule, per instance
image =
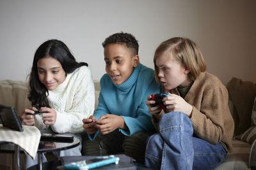
[{"label": "long dark wavy hair of the girl in white", "polygon": [[45,41],[38,47],[35,52],[33,66],[29,75],[29,95],[28,99],[32,106],[37,109],[41,107],[49,107],[47,99],[48,89],[38,78],[37,62],[44,57],[52,57],[60,62],[66,75],[72,73],[75,69],[81,66],[88,66],[85,62],[77,62],[75,57],[68,50],[67,45],[57,39]]}]

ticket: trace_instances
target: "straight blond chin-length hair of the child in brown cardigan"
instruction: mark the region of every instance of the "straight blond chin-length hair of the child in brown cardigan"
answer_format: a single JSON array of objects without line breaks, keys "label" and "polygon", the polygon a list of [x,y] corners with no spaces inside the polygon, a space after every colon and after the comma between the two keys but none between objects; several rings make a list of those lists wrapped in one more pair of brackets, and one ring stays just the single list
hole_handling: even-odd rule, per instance
[{"label": "straight blond chin-length hair of the child in brown cardigan", "polygon": [[188,38],[170,38],[161,43],[154,55],[155,77],[159,82],[159,70],[156,66],[156,59],[164,53],[172,54],[173,58],[180,64],[183,64],[186,69],[189,69],[189,79],[195,81],[201,72],[206,70],[206,64],[200,48],[195,42]]}]

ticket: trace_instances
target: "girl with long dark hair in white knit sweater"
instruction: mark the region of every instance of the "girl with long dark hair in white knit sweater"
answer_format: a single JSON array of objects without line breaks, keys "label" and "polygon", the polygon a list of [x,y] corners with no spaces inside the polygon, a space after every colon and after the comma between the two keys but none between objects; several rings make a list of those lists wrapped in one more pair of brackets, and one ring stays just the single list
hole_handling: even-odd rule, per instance
[{"label": "girl with long dark hair in white knit sweater", "polygon": [[[45,41],[35,52],[28,99],[31,107],[23,111],[22,124],[81,139],[82,120],[93,114],[95,104],[92,71],[88,64],[77,62],[63,42]],[[34,115],[35,111],[42,114]],[[61,151],[59,156],[64,155],[81,155],[81,145]],[[27,167],[33,164],[27,161]]]}]

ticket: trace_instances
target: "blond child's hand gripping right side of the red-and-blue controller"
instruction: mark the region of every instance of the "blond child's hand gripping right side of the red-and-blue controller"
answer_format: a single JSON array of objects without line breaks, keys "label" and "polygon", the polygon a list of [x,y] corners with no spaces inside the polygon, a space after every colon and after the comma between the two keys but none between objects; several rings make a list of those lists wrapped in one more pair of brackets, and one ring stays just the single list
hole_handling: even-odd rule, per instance
[{"label": "blond child's hand gripping right side of the red-and-blue controller", "polygon": [[182,111],[191,118],[193,106],[188,104],[182,97],[171,94],[171,96],[164,97],[163,102],[168,112]]}]

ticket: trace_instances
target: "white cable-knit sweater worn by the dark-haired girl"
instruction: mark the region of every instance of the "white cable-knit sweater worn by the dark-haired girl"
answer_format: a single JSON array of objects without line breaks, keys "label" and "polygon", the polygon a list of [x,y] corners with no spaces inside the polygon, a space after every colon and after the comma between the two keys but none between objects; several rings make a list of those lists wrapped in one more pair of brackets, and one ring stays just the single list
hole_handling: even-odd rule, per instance
[{"label": "white cable-knit sweater worn by the dark-haired girl", "polygon": [[[95,104],[95,89],[92,71],[82,66],[67,77],[55,90],[49,90],[47,96],[49,106],[56,110],[56,123],[51,129],[57,133],[83,132],[83,118],[93,115]],[[35,126],[38,129],[49,127],[42,117],[36,115]]]}]

